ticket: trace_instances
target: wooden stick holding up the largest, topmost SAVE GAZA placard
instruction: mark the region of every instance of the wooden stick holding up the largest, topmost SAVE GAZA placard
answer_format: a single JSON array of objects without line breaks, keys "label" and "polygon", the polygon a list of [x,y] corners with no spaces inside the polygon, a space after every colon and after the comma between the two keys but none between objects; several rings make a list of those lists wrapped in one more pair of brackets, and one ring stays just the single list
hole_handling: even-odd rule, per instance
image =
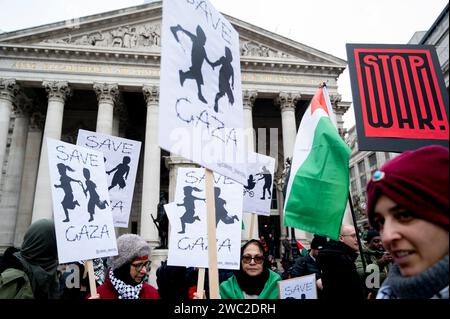
[{"label": "wooden stick holding up the largest, topmost SAVE GAZA placard", "polygon": [[219,295],[219,271],[217,268],[217,243],[216,243],[216,204],[214,199],[214,175],[209,169],[205,169],[205,193],[206,193],[206,219],[208,223],[208,279],[209,298],[220,299]]}]

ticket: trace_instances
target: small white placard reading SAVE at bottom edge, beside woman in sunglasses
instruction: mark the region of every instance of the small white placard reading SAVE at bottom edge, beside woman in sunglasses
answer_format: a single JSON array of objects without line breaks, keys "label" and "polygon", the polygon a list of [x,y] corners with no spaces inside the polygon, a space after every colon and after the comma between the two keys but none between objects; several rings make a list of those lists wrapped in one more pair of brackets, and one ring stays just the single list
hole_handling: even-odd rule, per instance
[{"label": "small white placard reading SAVE at bottom edge, beside woman in sunglasses", "polygon": [[278,282],[280,299],[317,299],[316,275],[306,275]]}]

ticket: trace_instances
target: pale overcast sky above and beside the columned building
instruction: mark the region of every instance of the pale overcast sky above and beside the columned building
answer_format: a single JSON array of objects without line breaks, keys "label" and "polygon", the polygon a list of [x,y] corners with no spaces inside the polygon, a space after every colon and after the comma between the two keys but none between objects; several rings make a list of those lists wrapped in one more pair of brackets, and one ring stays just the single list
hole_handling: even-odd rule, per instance
[{"label": "pale overcast sky above and beside the columned building", "polygon": [[[196,0],[198,1],[198,0]],[[428,30],[448,0],[210,0],[228,15],[347,60],[346,43],[407,43]],[[129,6],[143,0],[0,0],[0,30],[15,31]],[[339,93],[351,101],[348,70]],[[354,124],[353,111],[344,116]]]}]

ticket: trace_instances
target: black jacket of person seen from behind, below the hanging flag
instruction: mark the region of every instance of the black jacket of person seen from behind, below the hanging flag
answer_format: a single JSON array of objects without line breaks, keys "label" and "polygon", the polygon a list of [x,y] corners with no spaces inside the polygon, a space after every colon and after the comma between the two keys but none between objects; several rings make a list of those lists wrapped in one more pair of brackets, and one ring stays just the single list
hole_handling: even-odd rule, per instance
[{"label": "black jacket of person seen from behind, below the hanging flag", "polygon": [[323,299],[364,299],[363,283],[356,271],[358,254],[342,242],[331,240],[317,256],[322,272]]}]

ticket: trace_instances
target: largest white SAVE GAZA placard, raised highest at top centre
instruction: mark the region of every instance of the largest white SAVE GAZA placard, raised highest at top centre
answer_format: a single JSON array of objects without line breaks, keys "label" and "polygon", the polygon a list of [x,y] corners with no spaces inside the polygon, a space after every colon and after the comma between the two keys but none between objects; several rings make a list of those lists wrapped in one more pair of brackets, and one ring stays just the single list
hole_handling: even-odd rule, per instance
[{"label": "largest white SAVE GAZA placard, raised highest at top centre", "polygon": [[163,1],[159,145],[247,180],[239,35],[209,1]]}]

